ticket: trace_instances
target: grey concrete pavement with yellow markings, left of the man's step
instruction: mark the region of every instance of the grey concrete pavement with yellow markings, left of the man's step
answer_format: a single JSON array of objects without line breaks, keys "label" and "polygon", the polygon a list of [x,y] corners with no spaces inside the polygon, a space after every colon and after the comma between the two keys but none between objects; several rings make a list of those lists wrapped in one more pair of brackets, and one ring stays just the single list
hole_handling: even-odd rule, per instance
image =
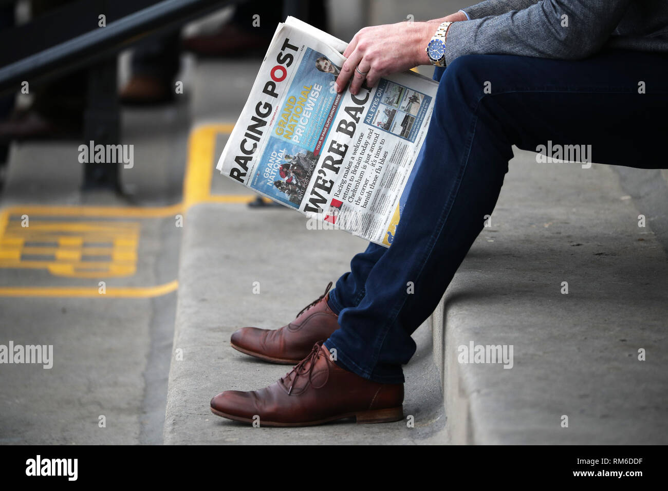
[{"label": "grey concrete pavement with yellow markings, left of the man's step", "polygon": [[[180,200],[188,126],[186,105],[124,111],[123,143],[135,149],[134,167],[121,171],[130,199],[81,192],[80,142],[12,147],[0,216],[13,210],[8,225],[20,239],[0,223],[0,344],[53,345],[53,367],[0,365],[0,444],[162,443],[176,293],[151,292],[176,280],[182,228],[173,214],[132,205]],[[54,273],[88,267],[94,249],[98,273]],[[114,265],[131,269],[115,276]],[[100,281],[110,294],[129,291],[97,295]]]}]

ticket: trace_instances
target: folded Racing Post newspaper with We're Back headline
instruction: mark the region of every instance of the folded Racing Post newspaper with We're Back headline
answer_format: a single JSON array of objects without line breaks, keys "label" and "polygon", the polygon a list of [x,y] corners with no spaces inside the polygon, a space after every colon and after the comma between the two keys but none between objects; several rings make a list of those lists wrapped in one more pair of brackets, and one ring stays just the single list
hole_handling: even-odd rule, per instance
[{"label": "folded Racing Post newspaper with We're Back headline", "polygon": [[280,23],[216,168],[327,228],[389,247],[438,84],[413,71],[337,93],[347,43]]}]

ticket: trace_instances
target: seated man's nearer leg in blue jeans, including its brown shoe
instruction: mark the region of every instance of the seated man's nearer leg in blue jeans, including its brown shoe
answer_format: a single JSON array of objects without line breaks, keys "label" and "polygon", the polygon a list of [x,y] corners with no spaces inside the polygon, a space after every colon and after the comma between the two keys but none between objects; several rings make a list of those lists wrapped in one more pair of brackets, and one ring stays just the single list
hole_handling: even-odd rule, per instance
[{"label": "seated man's nearer leg in blue jeans, including its brown shoe", "polygon": [[[266,426],[401,418],[398,387],[401,365],[415,352],[411,333],[434,311],[492,214],[512,145],[536,151],[554,142],[591,148],[587,161],[661,168],[665,156],[655,143],[667,123],[660,114],[652,124],[638,122],[668,105],[666,77],[668,55],[632,51],[578,61],[456,59],[440,80],[401,223],[391,247],[375,263],[369,256],[373,266],[359,304],[344,308],[339,329],[277,383],[220,393],[211,401],[213,412],[245,422],[258,415]],[[639,94],[639,80],[647,93]]]}]

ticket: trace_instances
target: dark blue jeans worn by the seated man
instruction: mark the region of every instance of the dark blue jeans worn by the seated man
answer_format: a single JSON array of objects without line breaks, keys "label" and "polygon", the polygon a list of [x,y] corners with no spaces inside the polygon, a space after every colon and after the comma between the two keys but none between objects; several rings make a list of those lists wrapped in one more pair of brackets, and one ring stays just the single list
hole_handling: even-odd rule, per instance
[{"label": "dark blue jeans worn by the seated man", "polygon": [[466,55],[434,78],[440,85],[423,160],[392,246],[369,244],[330,293],[340,328],[325,344],[339,365],[373,381],[403,382],[401,365],[415,352],[411,333],[492,214],[512,145],[591,145],[593,162],[668,167],[666,54]]}]

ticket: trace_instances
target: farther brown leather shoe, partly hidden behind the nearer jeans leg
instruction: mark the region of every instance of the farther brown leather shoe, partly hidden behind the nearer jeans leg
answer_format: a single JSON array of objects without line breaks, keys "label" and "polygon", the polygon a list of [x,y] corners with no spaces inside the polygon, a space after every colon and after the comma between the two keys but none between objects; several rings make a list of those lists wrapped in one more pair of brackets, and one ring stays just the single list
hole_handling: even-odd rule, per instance
[{"label": "farther brown leather shoe, partly hidden behind the nearer jeans leg", "polygon": [[246,355],[272,363],[296,365],[309,354],[314,343],[322,343],[339,329],[339,316],[327,305],[329,282],[325,293],[304,307],[294,321],[280,329],[242,327],[232,334],[230,345]]}]

